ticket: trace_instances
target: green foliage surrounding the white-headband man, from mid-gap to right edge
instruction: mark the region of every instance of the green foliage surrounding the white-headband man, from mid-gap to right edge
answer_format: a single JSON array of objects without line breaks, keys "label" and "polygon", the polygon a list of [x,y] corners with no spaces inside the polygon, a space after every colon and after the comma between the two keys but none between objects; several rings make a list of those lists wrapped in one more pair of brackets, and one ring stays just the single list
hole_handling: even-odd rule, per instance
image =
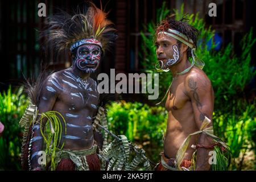
[{"label": "green foliage surrounding the white-headband man, from mid-gap to right edge", "polygon": [[[184,15],[183,6],[180,10],[175,10],[175,19],[179,20]],[[150,35],[145,35],[141,32],[143,39],[141,54],[141,64],[144,72],[156,73],[156,49],[154,46],[153,37],[155,34],[155,24],[159,23],[164,17],[169,15],[170,10],[166,9],[165,4],[157,11],[157,22],[148,23],[146,26]],[[214,113],[213,113],[213,127],[214,134],[223,139],[230,146],[235,162],[232,163],[230,169],[256,169],[255,156],[246,161],[246,154],[253,152],[255,154],[255,127],[256,127],[256,109],[255,98],[253,100],[246,99],[245,87],[250,80],[255,76],[256,71],[250,65],[251,48],[256,39],[253,38],[253,31],[250,30],[241,40],[241,55],[232,53],[232,45],[221,49],[221,51],[214,51],[217,46],[213,42],[214,30],[211,27],[206,27],[204,20],[199,18],[199,14],[187,15],[187,22],[200,31],[199,44],[197,45],[196,55],[205,62],[204,72],[207,74],[212,82],[214,89]],[[207,43],[211,41],[212,46],[207,47]],[[146,58],[144,58],[146,57]],[[163,98],[168,86],[170,85],[172,76],[169,72],[159,73],[159,92],[160,97],[158,101],[152,103],[153,105]],[[146,107],[147,110],[139,110],[134,116],[138,108]],[[122,109],[123,108],[123,109]],[[110,128],[115,129],[118,126],[121,130],[114,130],[119,133],[124,133],[129,136],[130,140],[138,138],[137,142],[143,148],[146,148],[146,153],[149,158],[157,162],[160,159],[158,155],[163,150],[162,140],[160,135],[163,135],[166,127],[166,115],[163,110],[159,110],[154,118],[154,110],[156,107],[142,105],[141,103],[127,103],[114,104],[110,106],[108,117]],[[151,110],[151,111],[150,111]],[[136,112],[135,112],[136,113]],[[142,117],[147,115],[147,117]],[[119,118],[121,116],[121,118]],[[149,118],[154,118],[149,120]],[[146,124],[150,121],[150,124]],[[151,127],[148,127],[151,126]],[[137,127],[137,129],[135,129]],[[139,131],[139,132],[138,132]],[[152,132],[159,132],[158,134],[151,134]],[[137,133],[137,134],[136,134]],[[145,142],[142,133],[151,134]],[[155,137],[153,137],[155,136]],[[158,136],[158,137],[156,137]],[[144,143],[144,145],[143,145]],[[150,147],[147,148],[147,143]],[[156,150],[156,148],[158,148]],[[249,164],[247,164],[249,162]]]}]

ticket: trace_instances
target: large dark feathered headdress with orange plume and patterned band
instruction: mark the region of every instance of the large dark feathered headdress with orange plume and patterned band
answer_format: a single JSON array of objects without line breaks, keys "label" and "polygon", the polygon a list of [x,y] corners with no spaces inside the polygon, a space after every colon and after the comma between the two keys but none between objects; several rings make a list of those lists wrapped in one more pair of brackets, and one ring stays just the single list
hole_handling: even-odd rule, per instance
[{"label": "large dark feathered headdress with orange plume and patterned band", "polygon": [[102,51],[117,39],[114,24],[106,19],[107,13],[98,9],[92,2],[71,15],[65,12],[48,18],[48,28],[41,35],[46,45],[59,54],[65,49],[73,49],[82,44],[97,44]]}]

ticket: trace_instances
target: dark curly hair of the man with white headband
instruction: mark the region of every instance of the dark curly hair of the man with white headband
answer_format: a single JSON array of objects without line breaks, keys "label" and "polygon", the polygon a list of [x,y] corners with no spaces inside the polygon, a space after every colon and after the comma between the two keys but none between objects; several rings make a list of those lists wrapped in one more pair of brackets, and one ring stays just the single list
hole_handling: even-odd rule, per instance
[{"label": "dark curly hair of the man with white headband", "polygon": [[[185,16],[185,15],[184,15]],[[173,16],[168,16],[166,19],[162,20],[162,22],[160,22],[158,24],[158,26],[156,26],[156,30],[155,30],[155,36],[154,36],[154,41],[156,40],[158,33],[161,31],[167,31],[169,28],[173,29],[173,30],[177,30],[179,32],[181,32],[182,34],[184,34],[185,36],[187,36],[188,39],[192,39],[193,43],[196,47],[197,45],[197,36],[199,34],[199,31],[189,25],[187,22],[185,22],[185,20],[188,20],[186,18],[180,19],[180,20],[175,20]],[[181,42],[179,40],[177,40],[177,43],[180,47]],[[191,48],[188,47],[187,49],[187,57],[191,57]]]}]

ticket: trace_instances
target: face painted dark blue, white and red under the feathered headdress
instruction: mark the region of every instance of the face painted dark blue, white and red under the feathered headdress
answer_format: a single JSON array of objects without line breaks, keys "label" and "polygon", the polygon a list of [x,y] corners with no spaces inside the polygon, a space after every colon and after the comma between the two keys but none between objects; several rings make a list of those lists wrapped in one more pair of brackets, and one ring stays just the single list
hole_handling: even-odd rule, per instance
[{"label": "face painted dark blue, white and red under the feathered headdress", "polygon": [[101,48],[95,44],[84,44],[77,48],[76,67],[86,73],[93,73],[98,68],[101,59]]}]

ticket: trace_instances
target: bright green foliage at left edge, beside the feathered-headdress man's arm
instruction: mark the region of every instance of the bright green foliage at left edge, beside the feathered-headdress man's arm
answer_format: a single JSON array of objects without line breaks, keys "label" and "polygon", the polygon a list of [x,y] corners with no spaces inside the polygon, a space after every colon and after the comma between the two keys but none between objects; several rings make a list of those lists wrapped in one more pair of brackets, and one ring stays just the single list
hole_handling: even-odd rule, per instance
[{"label": "bright green foliage at left edge, beside the feathered-headdress man's arm", "polygon": [[23,88],[0,93],[0,121],[5,130],[0,138],[0,170],[20,169],[20,147],[22,129],[19,120],[28,105],[27,97],[22,94]]}]

